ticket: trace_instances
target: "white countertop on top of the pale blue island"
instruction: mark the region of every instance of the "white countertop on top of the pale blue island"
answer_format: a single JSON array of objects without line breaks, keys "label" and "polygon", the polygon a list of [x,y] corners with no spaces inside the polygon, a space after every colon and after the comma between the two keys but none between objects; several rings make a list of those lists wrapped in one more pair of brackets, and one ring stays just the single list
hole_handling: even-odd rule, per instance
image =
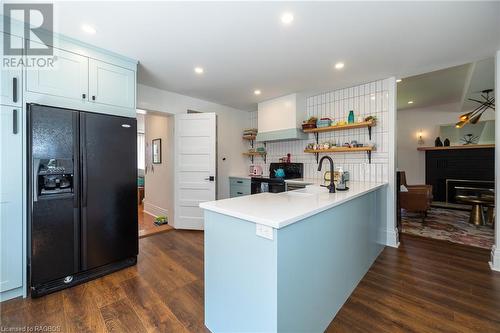
[{"label": "white countertop on top of the pale blue island", "polygon": [[336,193],[328,193],[328,189],[318,185],[309,185],[305,189],[290,192],[260,193],[203,202],[200,207],[279,229],[385,185],[387,183],[349,182],[348,191]]}]

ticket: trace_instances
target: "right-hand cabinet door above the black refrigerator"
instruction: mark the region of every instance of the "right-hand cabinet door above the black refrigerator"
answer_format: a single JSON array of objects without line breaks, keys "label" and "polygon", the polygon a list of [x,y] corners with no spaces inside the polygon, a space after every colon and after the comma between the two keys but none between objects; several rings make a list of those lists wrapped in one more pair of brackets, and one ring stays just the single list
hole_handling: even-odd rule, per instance
[{"label": "right-hand cabinet door above the black refrigerator", "polygon": [[90,101],[135,108],[135,72],[95,59],[89,64]]}]

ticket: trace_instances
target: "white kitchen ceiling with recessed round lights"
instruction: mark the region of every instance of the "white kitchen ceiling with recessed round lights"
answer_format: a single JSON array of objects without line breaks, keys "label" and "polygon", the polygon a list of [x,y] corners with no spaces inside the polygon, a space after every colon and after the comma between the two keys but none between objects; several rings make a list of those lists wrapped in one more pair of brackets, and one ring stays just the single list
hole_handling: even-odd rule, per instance
[{"label": "white kitchen ceiling with recessed round lights", "polygon": [[[54,10],[57,32],[138,59],[139,83],[245,110],[500,49],[499,2],[71,1]],[[294,15],[288,26],[285,11]],[[338,61],[344,69],[333,68]]]}]

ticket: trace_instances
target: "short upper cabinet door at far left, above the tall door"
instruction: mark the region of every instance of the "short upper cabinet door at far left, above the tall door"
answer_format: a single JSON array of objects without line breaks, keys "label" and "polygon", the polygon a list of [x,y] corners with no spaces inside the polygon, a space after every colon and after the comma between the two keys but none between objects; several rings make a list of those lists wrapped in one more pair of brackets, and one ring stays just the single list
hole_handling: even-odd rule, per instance
[{"label": "short upper cabinet door at far left, above the tall door", "polygon": [[[0,54],[2,55],[2,63],[4,61],[3,43],[5,38],[9,36],[5,33],[0,33]],[[23,44],[23,39],[17,36],[10,36],[10,43],[15,47],[20,47]],[[8,58],[8,56],[5,56]],[[0,104],[21,106],[22,104],[22,69],[21,67],[4,67],[1,66],[1,83],[0,83]]]}]

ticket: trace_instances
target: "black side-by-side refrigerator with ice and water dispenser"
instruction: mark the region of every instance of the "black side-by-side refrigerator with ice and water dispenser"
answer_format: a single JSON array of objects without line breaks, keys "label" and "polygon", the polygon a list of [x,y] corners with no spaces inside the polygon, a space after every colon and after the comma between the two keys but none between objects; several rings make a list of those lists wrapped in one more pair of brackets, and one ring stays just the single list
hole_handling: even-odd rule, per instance
[{"label": "black side-by-side refrigerator with ice and water dispenser", "polygon": [[134,265],[134,118],[28,105],[28,274],[33,297]]}]

